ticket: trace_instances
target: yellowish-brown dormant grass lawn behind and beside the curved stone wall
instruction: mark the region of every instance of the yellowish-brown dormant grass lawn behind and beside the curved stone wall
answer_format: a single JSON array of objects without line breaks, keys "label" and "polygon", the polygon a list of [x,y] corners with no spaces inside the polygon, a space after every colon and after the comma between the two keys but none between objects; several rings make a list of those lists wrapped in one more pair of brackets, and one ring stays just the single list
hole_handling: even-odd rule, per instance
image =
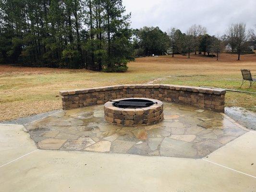
[{"label": "yellowish-brown dormant grass lawn behind and beside the curved stone wall", "polygon": [[[0,65],[0,121],[61,108],[60,90],[114,84],[180,84],[216,86],[256,92],[256,84],[240,89],[240,69],[256,75],[256,54],[221,54],[216,58],[192,55],[191,59],[175,55],[138,58],[128,64],[125,73],[103,73],[86,70],[28,68]],[[227,92],[226,106],[256,111],[256,95]]]}]

